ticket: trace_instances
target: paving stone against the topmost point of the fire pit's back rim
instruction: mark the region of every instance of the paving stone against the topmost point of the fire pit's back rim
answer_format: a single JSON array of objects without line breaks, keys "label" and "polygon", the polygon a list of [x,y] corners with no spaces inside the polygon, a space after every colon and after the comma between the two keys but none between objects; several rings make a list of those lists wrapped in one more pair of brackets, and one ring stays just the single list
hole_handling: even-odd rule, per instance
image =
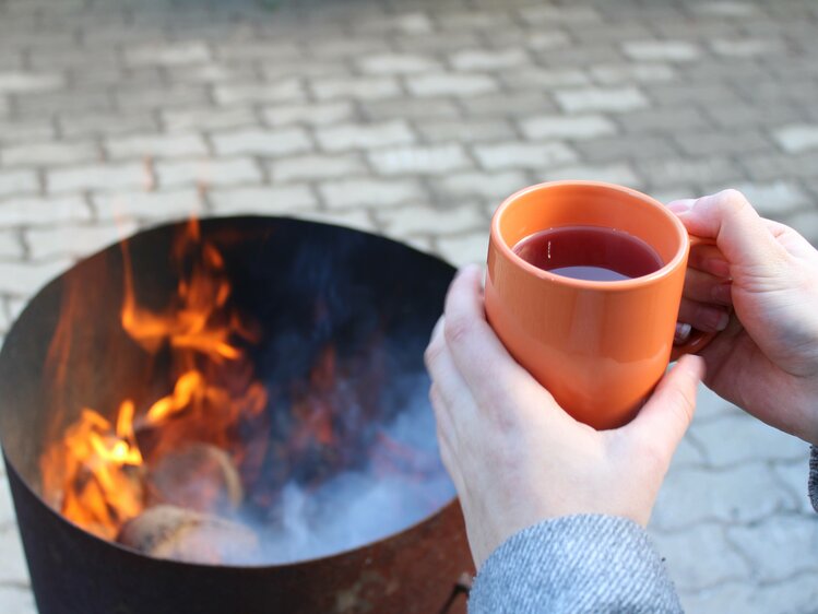
[{"label": "paving stone against the topmost point of the fire pit's back rim", "polygon": [[220,215],[276,215],[312,209],[318,201],[307,186],[232,188],[212,190],[213,210]]}]

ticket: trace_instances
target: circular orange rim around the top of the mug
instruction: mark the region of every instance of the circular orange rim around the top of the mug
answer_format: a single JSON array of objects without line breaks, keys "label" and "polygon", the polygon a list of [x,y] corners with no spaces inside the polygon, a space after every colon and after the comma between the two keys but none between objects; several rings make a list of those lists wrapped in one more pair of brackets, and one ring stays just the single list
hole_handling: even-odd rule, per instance
[{"label": "circular orange rim around the top of the mug", "polygon": [[[535,267],[534,264],[527,262],[526,260],[522,259],[520,256],[514,253],[514,250],[503,240],[502,234],[500,232],[500,217],[502,217],[502,214],[505,213],[505,211],[509,209],[509,206],[511,206],[517,200],[519,200],[520,197],[527,194],[530,192],[543,191],[543,190],[548,190],[548,189],[559,188],[559,187],[589,187],[589,188],[603,188],[606,190],[614,190],[614,191],[625,193],[631,198],[639,199],[643,202],[647,202],[655,206],[662,212],[662,214],[667,220],[671,221],[674,228],[676,229],[677,238],[679,239],[678,250],[676,250],[676,253],[674,255],[674,257],[666,264],[664,264],[661,269],[657,269],[656,271],[653,271],[652,273],[649,273],[647,275],[641,275],[639,278],[631,278],[629,280],[606,281],[606,282],[578,280],[576,278],[567,278],[565,275],[558,275],[557,273],[552,273],[550,271],[546,271],[544,269],[541,269],[540,267]],[[617,184],[608,184],[607,181],[586,181],[586,180],[571,180],[571,179],[560,180],[560,181],[544,181],[541,184],[535,184],[533,186],[522,188],[521,190],[518,190],[511,196],[507,197],[500,203],[500,205],[497,208],[497,211],[495,211],[494,215],[491,216],[490,240],[491,240],[491,244],[494,244],[495,248],[498,249],[506,257],[506,259],[510,260],[515,265],[523,269],[525,272],[534,276],[537,276],[544,281],[559,283],[559,284],[567,285],[569,287],[574,287],[574,288],[608,291],[608,292],[633,290],[637,287],[649,285],[664,278],[667,278],[674,270],[676,270],[683,263],[690,247],[690,236],[688,235],[687,229],[685,228],[684,224],[681,224],[679,219],[676,217],[664,204],[662,204],[660,201],[657,201],[653,197],[648,196],[643,192],[640,192],[639,190],[635,190],[626,186],[619,186]]]}]

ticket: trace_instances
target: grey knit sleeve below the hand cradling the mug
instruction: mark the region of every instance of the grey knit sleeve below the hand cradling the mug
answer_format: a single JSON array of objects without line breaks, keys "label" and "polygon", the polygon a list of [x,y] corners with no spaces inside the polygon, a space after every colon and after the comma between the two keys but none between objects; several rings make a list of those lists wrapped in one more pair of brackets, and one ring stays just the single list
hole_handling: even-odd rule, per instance
[{"label": "grey knit sleeve below the hand cradling the mug", "polygon": [[567,516],[515,533],[484,563],[470,614],[677,614],[664,563],[637,523]]}]

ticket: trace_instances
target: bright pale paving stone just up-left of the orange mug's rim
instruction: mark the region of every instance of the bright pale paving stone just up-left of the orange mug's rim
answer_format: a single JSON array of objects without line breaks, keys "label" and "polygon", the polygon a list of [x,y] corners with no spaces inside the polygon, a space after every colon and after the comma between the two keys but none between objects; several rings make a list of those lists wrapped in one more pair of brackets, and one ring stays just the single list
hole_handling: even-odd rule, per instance
[{"label": "bright pale paving stone just up-left of the orange mug's rim", "polygon": [[444,175],[473,166],[462,145],[455,143],[376,150],[368,157],[380,175]]}]

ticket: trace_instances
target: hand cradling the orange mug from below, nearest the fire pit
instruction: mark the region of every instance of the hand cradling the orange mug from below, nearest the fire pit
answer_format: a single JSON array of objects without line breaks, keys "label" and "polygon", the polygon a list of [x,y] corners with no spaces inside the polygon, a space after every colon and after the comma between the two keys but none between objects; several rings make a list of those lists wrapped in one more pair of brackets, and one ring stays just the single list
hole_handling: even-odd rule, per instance
[{"label": "hand cradling the orange mug from below, nearest the fire pit", "polygon": [[452,282],[426,351],[440,453],[479,567],[517,531],[572,513],[645,526],[693,413],[703,365],[686,356],[616,430],[576,422],[486,322],[477,268]]}]

